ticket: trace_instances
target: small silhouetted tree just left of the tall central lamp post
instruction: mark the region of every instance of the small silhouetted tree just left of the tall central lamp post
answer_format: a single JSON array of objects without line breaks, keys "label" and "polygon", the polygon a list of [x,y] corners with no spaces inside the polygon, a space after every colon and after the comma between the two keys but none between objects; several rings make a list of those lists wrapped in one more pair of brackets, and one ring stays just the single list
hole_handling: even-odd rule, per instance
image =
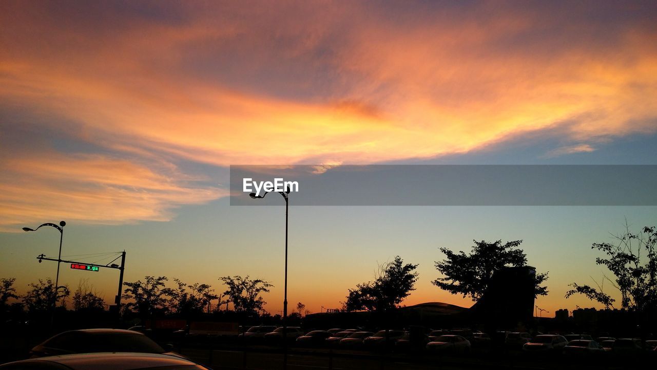
[{"label": "small silhouetted tree just left of the tall central lamp post", "polygon": [[269,293],[269,288],[273,286],[265,280],[250,280],[248,276],[220,277],[219,280],[228,286],[223,294],[229,296],[238,312],[257,313],[265,304],[260,293]]}]

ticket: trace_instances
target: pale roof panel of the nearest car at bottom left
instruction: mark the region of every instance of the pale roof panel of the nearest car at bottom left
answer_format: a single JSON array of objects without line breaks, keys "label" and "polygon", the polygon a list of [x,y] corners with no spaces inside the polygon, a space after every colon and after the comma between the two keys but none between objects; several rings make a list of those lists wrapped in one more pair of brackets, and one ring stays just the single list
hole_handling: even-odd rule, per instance
[{"label": "pale roof panel of the nearest car at bottom left", "polygon": [[43,363],[59,363],[74,370],[131,370],[143,369],[147,367],[198,365],[197,363],[189,361],[188,359],[183,359],[181,357],[161,354],[137,354],[131,352],[48,356],[16,361],[9,364],[38,364],[41,363],[41,361],[43,361]]}]

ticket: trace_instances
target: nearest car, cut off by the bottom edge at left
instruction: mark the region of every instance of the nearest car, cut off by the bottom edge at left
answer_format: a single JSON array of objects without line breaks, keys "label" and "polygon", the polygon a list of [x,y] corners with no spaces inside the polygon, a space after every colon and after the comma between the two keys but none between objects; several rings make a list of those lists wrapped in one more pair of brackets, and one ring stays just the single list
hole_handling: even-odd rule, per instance
[{"label": "nearest car, cut off by the bottom edge at left", "polygon": [[0,365],[1,370],[151,370],[179,369],[203,370],[210,369],[189,359],[162,354],[145,353],[91,353],[47,356],[34,359],[24,359]]}]

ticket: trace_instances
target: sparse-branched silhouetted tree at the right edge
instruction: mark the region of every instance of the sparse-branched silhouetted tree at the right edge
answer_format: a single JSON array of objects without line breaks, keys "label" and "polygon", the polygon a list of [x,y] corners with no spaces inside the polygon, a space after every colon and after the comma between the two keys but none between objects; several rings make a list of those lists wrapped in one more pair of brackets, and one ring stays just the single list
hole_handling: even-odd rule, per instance
[{"label": "sparse-branched silhouetted tree at the right edge", "polygon": [[[611,282],[621,294],[621,306],[636,311],[657,310],[657,232],[655,227],[645,226],[638,234],[629,230],[625,221],[625,232],[612,235],[616,240],[611,243],[593,243],[591,249],[603,251],[608,257],[597,257],[595,263],[604,265],[616,277]],[[583,294],[603,304],[614,307],[614,298],[602,292],[602,282],[598,288],[572,283],[572,290],[566,292],[566,298],[573,294]]]}]

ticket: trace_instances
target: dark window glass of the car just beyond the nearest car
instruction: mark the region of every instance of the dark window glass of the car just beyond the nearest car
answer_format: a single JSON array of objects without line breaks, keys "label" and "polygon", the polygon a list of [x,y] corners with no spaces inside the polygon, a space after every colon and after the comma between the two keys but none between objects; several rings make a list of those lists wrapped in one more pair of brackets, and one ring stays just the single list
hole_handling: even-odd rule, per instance
[{"label": "dark window glass of the car just beyond the nearest car", "polygon": [[164,348],[145,335],[115,332],[88,334],[83,347],[85,352],[142,352],[147,354],[166,352]]}]

